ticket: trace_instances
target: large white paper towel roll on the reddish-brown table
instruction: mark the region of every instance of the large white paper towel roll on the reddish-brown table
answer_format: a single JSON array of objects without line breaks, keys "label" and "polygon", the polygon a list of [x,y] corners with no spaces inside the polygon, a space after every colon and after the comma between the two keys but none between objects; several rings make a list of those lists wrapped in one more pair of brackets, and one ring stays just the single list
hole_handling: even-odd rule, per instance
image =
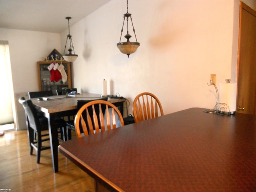
[{"label": "large white paper towel roll on the reddish-brown table", "polygon": [[220,83],[219,103],[229,106],[230,112],[236,111],[236,83]]}]

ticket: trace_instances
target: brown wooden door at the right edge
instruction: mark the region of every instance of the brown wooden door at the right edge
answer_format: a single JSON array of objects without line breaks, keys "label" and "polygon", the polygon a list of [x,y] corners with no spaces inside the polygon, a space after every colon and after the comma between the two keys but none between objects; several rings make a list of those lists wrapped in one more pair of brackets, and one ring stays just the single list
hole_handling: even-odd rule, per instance
[{"label": "brown wooden door at the right edge", "polygon": [[256,114],[256,11],[240,2],[236,112]]}]

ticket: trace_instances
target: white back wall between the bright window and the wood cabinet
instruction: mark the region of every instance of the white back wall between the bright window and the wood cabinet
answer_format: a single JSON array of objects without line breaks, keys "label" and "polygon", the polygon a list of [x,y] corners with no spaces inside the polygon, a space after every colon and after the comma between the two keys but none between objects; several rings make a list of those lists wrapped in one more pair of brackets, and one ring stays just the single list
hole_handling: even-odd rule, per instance
[{"label": "white back wall between the bright window and the wood cabinet", "polygon": [[54,48],[60,51],[60,34],[0,28],[0,40],[9,43],[15,95],[14,123],[16,128],[26,129],[24,110],[18,97],[39,90],[36,62],[48,56]]}]

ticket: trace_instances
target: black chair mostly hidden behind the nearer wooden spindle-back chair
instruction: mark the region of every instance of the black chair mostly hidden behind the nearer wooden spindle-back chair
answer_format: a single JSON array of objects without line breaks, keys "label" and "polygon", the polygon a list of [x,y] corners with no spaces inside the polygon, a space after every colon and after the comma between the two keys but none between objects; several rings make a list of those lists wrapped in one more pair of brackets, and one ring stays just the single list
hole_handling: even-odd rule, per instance
[{"label": "black chair mostly hidden behind the nearer wooden spindle-back chair", "polygon": [[[107,101],[108,100],[108,97],[102,97],[102,98],[97,98],[97,99],[93,99],[93,100],[77,100],[77,110],[79,110],[82,106],[84,106],[85,104],[87,104],[88,102],[91,102],[91,101],[95,101],[95,100],[104,100],[104,101]],[[96,107],[97,108],[97,107]],[[97,110],[97,109],[96,109]],[[90,116],[92,116],[92,109],[89,109],[89,113],[90,113]],[[70,140],[72,139],[72,133],[71,131],[76,131],[75,129],[75,122],[74,120],[70,120],[70,121],[67,121],[67,139]]]}]

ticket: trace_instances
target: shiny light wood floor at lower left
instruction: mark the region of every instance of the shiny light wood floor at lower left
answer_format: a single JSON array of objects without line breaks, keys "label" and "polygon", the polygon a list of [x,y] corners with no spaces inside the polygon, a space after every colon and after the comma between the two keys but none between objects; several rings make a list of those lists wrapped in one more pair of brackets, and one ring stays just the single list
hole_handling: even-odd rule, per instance
[{"label": "shiny light wood floor at lower left", "polygon": [[33,153],[30,155],[26,130],[5,132],[0,137],[0,189],[94,192],[94,180],[62,154],[58,154],[59,172],[54,173],[50,150],[41,152],[40,164]]}]

